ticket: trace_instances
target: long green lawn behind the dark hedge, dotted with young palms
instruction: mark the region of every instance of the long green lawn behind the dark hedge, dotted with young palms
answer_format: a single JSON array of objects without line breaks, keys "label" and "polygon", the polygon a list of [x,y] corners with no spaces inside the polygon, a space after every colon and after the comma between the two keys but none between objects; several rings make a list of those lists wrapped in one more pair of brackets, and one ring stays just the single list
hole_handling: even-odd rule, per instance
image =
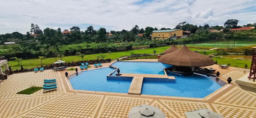
[{"label": "long green lawn behind the dark hedge, dotted with young palms", "polygon": [[[153,54],[153,49],[156,50],[156,53],[162,53],[164,50],[170,48],[169,46],[164,46],[164,47],[157,47],[157,48],[150,48],[150,49],[140,49],[140,50],[130,50],[130,51],[124,51],[124,52],[113,52],[113,53],[102,53],[103,55],[106,55],[105,59],[110,58],[110,59],[116,59],[116,58],[120,58],[121,56],[125,56],[125,55],[130,55],[131,52],[133,52],[134,54]],[[199,49],[191,49],[191,50],[199,50]],[[91,54],[91,55],[85,55],[83,60],[90,60],[90,59],[97,59],[97,56],[100,56],[100,54]],[[57,58],[57,60],[60,60],[60,58]],[[62,58],[62,61],[66,61],[66,62],[71,62],[71,60],[73,61],[79,61],[82,60],[82,58],[80,58],[79,56],[66,56]],[[27,60],[22,60],[20,65],[18,65],[17,61],[8,61],[8,65],[11,66],[12,70],[16,70],[16,69],[20,69],[20,66],[22,65],[23,68],[36,68],[37,66],[41,66],[41,65],[46,65],[46,64],[52,64],[56,62],[56,60],[54,58],[45,58],[42,60],[42,64],[41,64],[41,60],[40,59],[27,59]],[[88,67],[89,68],[89,67]]]}]

